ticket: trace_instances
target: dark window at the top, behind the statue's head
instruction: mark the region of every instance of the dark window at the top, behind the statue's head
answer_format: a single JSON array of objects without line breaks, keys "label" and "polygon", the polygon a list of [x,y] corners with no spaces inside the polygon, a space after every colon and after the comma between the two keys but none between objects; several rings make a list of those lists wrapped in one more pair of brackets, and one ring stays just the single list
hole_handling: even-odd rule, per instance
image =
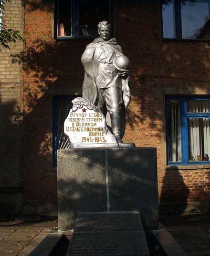
[{"label": "dark window at the top, behind the statue's head", "polygon": [[57,0],[57,38],[97,37],[100,21],[111,22],[112,0]]}]

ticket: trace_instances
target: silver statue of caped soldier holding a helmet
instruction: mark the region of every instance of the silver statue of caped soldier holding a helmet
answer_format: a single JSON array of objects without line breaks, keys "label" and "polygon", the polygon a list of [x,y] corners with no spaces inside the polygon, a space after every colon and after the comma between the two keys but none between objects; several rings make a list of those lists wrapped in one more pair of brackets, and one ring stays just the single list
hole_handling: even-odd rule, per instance
[{"label": "silver statue of caped soldier holding a helmet", "polygon": [[117,142],[125,130],[125,109],[130,101],[129,59],[122,54],[116,38],[110,38],[110,24],[98,24],[100,37],[87,45],[81,57],[85,68],[82,98],[88,98],[106,117]]}]

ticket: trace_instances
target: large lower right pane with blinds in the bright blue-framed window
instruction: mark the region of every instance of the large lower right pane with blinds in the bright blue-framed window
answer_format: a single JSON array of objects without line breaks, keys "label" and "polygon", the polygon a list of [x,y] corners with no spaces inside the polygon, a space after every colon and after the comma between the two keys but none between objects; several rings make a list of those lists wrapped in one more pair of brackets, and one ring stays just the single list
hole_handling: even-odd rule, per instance
[{"label": "large lower right pane with blinds in the bright blue-framed window", "polygon": [[189,161],[208,161],[210,118],[188,118]]}]

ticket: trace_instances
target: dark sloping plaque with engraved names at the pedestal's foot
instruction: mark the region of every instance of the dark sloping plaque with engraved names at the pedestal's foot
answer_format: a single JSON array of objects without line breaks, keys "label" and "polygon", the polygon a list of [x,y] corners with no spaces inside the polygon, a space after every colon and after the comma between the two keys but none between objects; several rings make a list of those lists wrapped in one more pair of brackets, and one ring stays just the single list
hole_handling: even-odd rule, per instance
[{"label": "dark sloping plaque with engraved names at the pedestal's foot", "polygon": [[70,255],[150,255],[139,213],[80,213]]}]

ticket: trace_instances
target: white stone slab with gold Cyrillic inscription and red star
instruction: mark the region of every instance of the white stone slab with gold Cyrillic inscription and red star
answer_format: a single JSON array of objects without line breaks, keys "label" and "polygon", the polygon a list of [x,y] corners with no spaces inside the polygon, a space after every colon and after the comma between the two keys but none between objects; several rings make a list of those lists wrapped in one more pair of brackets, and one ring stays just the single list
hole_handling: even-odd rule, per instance
[{"label": "white stone slab with gold Cyrillic inscription and red star", "polygon": [[75,98],[64,122],[71,144],[113,144],[116,138],[106,125],[103,114],[88,99]]}]

